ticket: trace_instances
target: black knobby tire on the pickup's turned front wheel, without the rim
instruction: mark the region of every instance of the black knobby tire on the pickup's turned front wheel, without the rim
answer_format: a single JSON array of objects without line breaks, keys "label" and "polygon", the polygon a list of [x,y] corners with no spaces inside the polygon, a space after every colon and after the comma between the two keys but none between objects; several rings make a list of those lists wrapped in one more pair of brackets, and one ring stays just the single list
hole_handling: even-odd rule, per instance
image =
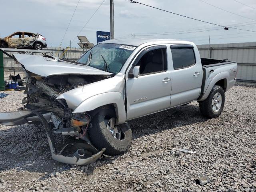
[{"label": "black knobby tire on the pickup's turned front wheel, without the rim", "polygon": [[132,144],[132,130],[128,124],[118,125],[120,139],[115,138],[107,128],[108,118],[115,118],[115,110],[101,108],[92,118],[92,126],[88,133],[92,144],[98,149],[106,148],[104,154],[119,155],[126,152]]}]

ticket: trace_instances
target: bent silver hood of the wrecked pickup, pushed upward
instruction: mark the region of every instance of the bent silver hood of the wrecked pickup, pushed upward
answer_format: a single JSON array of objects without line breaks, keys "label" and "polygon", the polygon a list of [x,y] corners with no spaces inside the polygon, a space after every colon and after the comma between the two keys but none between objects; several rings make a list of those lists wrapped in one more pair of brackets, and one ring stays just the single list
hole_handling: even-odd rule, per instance
[{"label": "bent silver hood of the wrecked pickup, pushed upward", "polygon": [[13,54],[14,60],[18,61],[24,68],[40,76],[52,75],[104,75],[109,76],[112,73],[105,72],[90,66],[74,64],[59,60],[57,57],[43,57],[36,55]]}]

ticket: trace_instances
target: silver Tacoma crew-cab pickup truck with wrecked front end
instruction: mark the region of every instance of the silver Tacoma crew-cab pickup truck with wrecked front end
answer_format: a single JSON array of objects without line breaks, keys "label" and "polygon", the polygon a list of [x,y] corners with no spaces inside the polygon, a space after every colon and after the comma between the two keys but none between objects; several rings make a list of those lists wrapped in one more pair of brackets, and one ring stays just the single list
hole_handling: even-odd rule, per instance
[{"label": "silver Tacoma crew-cab pickup truck with wrecked front end", "polygon": [[[108,40],[75,62],[13,57],[27,78],[27,96],[24,108],[0,113],[0,124],[41,121],[50,145],[54,133],[76,136],[106,155],[129,149],[127,122],[134,118],[194,100],[203,116],[218,117],[237,73],[235,61],[200,58],[196,45],[182,40]],[[60,155],[53,147],[52,154]]]}]

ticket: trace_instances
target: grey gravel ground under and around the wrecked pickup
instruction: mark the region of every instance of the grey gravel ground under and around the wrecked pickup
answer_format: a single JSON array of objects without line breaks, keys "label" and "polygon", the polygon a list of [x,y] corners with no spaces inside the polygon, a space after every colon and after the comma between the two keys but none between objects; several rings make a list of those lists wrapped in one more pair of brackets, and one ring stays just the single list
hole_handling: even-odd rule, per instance
[{"label": "grey gravel ground under and around the wrecked pickup", "polygon": [[[0,109],[24,97],[9,91]],[[41,125],[0,125],[0,191],[256,191],[256,87],[226,92],[221,116],[201,116],[198,103],[129,122],[134,140],[115,160],[70,167],[51,159]],[[58,142],[66,138],[58,136]],[[186,148],[196,154],[173,154]],[[210,183],[194,181],[208,176]]]}]

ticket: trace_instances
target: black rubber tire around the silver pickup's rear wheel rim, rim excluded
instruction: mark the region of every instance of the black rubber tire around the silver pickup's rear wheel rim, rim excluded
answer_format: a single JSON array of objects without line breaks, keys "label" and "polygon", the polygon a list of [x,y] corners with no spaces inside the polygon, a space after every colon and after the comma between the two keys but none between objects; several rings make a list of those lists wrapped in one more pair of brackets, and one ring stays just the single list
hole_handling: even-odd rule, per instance
[{"label": "black rubber tire around the silver pickup's rear wheel rim, rim excluded", "polygon": [[[218,111],[214,112],[212,102],[213,102],[214,96],[217,93],[219,93],[221,95],[222,102],[221,102],[221,105],[220,105],[220,108],[218,109]],[[223,107],[224,107],[224,102],[225,102],[225,93],[224,93],[223,88],[221,86],[214,85],[214,87],[212,88],[207,99],[199,103],[200,112],[205,117],[216,118],[216,117],[220,116],[220,114],[223,110]]]}]

